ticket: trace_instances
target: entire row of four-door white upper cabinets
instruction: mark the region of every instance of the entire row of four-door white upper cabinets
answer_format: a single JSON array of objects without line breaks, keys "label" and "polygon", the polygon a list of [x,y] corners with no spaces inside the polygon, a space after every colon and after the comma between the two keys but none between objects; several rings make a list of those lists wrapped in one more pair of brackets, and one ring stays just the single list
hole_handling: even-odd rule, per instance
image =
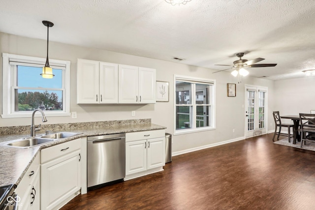
[{"label": "entire row of four-door white upper cabinets", "polygon": [[78,59],[77,103],[156,103],[156,69]]}]

